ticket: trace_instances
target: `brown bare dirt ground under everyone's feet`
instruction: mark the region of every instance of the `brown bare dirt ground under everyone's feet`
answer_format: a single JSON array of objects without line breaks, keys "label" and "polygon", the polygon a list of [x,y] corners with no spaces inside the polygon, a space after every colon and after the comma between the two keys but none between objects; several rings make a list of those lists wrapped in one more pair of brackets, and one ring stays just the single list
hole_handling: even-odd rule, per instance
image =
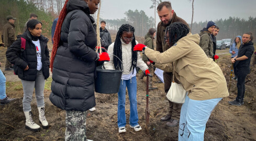
[{"label": "brown bare dirt ground under everyone's feet", "polygon": [[[0,48],[1,70],[4,70],[6,49]],[[230,54],[228,49],[217,50],[220,58],[216,63],[222,69],[227,85],[230,78]],[[231,80],[230,96],[222,99],[206,124],[205,140],[256,140],[256,68],[246,78],[246,96],[244,105],[237,107],[228,104],[237,95],[236,80]],[[0,106],[0,140],[64,140],[65,111],[55,107],[49,100],[50,85],[44,91],[46,118],[50,124],[48,130],[41,128],[32,132],[25,128],[23,113],[23,88],[12,71],[4,71],[7,79],[7,96],[17,98],[13,102]],[[156,78],[153,78],[157,81]],[[48,80],[49,81],[49,80]],[[50,83],[50,82],[48,82]],[[127,132],[118,133],[117,94],[95,93],[96,111],[87,112],[86,136],[92,140],[177,140],[179,127],[168,127],[160,118],[168,112],[168,100],[165,97],[163,84],[156,83],[157,90],[149,92],[150,131],[145,130],[146,77],[137,79],[138,114],[142,131],[135,132],[129,125]],[[46,86],[47,87],[47,86]],[[226,87],[226,86],[224,86]],[[129,100],[126,96],[126,118],[129,123]],[[39,124],[35,95],[31,103],[34,120]],[[40,125],[40,124],[39,124]]]}]

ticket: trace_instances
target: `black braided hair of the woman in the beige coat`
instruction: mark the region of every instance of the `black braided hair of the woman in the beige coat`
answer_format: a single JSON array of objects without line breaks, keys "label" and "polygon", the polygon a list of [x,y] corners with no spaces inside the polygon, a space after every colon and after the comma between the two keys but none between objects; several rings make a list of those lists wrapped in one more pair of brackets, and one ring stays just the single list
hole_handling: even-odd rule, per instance
[{"label": "black braided hair of the woman in the beige coat", "polygon": [[166,27],[165,37],[167,31],[169,31],[170,44],[175,44],[181,38],[185,37],[190,32],[190,29],[184,23],[174,22],[171,23],[170,26]]}]

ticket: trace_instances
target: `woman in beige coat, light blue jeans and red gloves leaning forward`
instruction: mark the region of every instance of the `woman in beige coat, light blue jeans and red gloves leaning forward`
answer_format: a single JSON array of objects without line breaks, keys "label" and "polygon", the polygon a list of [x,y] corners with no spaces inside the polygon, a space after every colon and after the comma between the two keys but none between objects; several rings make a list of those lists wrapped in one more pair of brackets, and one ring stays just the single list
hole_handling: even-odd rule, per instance
[{"label": "woman in beige coat, light blue jeans and red gloves leaning forward", "polygon": [[166,27],[165,39],[171,48],[163,53],[143,44],[135,45],[134,50],[144,51],[158,68],[173,72],[175,82],[187,91],[181,108],[179,140],[204,140],[210,114],[222,98],[229,96],[226,79],[218,64],[198,45],[199,35],[192,34],[183,23]]}]

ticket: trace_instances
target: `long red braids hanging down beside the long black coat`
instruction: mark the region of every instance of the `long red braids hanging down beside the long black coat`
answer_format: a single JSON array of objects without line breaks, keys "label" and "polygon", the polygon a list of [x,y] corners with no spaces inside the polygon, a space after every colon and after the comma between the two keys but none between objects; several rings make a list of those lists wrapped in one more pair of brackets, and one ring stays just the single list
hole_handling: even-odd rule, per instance
[{"label": "long red braids hanging down beside the long black coat", "polygon": [[54,61],[55,55],[56,55],[58,47],[59,47],[61,26],[66,17],[66,14],[68,13],[68,10],[66,9],[66,4],[68,2],[69,2],[69,0],[66,0],[65,4],[60,12],[59,20],[57,22],[56,29],[55,29],[54,36],[53,36],[54,42],[53,42],[53,48],[52,48],[52,53],[51,53],[51,63],[50,63],[51,72],[52,72],[52,67],[53,67],[53,61]]}]

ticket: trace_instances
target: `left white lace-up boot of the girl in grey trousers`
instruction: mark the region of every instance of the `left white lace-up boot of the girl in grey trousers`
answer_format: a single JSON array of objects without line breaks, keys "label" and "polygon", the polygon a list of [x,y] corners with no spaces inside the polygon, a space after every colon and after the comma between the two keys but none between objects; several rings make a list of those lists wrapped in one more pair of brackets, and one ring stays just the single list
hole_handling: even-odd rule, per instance
[{"label": "left white lace-up boot of the girl in grey trousers", "polygon": [[40,131],[40,126],[33,121],[32,112],[24,112],[26,116],[26,128],[31,131]]}]

